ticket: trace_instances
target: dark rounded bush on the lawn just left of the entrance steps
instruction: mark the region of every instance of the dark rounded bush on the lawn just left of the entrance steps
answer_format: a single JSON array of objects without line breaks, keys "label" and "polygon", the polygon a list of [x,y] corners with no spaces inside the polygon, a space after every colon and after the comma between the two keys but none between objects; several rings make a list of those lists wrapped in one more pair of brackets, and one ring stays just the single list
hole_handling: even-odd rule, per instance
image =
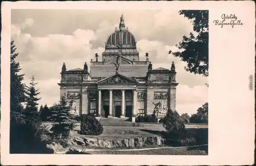
[{"label": "dark rounded bush on the lawn just left of the entrance steps", "polygon": [[103,126],[94,115],[81,116],[80,134],[100,135],[103,132]]}]

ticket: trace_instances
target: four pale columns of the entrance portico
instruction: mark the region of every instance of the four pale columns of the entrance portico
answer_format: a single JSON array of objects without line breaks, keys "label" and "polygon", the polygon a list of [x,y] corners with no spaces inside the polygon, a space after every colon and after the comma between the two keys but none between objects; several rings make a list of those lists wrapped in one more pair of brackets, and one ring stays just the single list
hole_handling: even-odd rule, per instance
[{"label": "four pale columns of the entrance portico", "polygon": [[[121,117],[124,117],[124,109],[125,109],[125,90],[122,89],[122,102],[121,102]],[[109,116],[113,116],[112,115],[112,109],[113,109],[113,93],[112,93],[112,89],[109,90]],[[98,90],[98,113],[100,115],[101,114],[101,90]],[[133,90],[133,115],[135,115],[137,113],[137,90]]]}]

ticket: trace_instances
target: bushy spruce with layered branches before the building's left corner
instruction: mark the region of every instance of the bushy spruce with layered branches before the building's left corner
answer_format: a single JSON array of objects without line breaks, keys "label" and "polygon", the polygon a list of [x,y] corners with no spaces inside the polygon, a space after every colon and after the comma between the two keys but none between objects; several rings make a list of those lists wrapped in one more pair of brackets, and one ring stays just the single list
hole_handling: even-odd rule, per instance
[{"label": "bushy spruce with layered branches before the building's left corner", "polygon": [[70,108],[67,106],[65,96],[61,96],[59,105],[52,110],[51,120],[55,122],[52,127],[54,136],[59,139],[67,139],[70,131],[75,128],[75,120],[70,113]]}]

